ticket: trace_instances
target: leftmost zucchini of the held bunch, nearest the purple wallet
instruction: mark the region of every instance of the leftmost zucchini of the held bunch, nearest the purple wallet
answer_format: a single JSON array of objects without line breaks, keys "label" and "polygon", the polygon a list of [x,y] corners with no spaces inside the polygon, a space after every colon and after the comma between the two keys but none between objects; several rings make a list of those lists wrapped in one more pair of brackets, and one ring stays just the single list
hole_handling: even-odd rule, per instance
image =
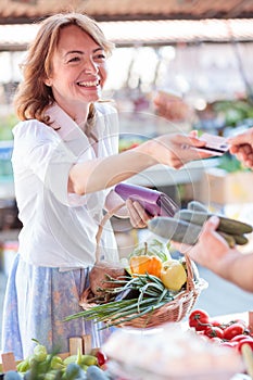
[{"label": "leftmost zucchini of the held bunch, nearest the purple wallet", "polygon": [[148,228],[162,238],[193,245],[197,243],[202,228],[175,217],[155,217],[148,221]]}]

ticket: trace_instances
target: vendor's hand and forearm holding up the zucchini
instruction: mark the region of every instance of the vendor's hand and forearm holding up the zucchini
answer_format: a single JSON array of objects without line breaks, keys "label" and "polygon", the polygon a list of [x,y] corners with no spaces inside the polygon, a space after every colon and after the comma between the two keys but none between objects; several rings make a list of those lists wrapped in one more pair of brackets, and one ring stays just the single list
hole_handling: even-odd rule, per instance
[{"label": "vendor's hand and forearm holding up the zucchini", "polygon": [[218,224],[218,217],[211,217],[193,246],[176,242],[173,245],[225,280],[253,292],[253,254],[242,254],[237,249],[230,249],[216,231]]}]

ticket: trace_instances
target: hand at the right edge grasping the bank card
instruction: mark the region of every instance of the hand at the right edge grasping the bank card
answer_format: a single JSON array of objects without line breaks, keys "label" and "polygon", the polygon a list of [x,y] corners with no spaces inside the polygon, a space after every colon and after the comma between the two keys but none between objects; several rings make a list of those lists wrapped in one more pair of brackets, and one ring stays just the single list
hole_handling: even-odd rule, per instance
[{"label": "hand at the right edge grasping the bank card", "polygon": [[253,128],[228,139],[228,143],[230,153],[235,154],[243,165],[253,169]]}]

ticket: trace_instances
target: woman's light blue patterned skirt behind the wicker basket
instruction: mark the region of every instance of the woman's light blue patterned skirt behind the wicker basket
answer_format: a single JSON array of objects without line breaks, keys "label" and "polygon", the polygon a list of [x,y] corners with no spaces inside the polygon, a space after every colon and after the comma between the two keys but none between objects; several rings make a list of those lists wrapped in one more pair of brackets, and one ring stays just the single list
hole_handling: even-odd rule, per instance
[{"label": "woman's light blue patterned skirt behind the wicker basket", "polygon": [[48,352],[60,347],[68,352],[68,338],[91,334],[92,346],[99,347],[111,333],[99,330],[101,325],[63,319],[81,311],[79,296],[89,286],[89,270],[60,271],[25,263],[17,254],[9,275],[2,321],[2,352],[13,352],[15,359],[33,353],[35,342]]}]

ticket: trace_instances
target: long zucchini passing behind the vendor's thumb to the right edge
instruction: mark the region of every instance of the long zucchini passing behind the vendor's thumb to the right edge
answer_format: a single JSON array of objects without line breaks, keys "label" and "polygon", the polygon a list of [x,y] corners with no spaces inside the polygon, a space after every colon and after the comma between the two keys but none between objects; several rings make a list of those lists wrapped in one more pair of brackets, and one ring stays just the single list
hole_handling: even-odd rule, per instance
[{"label": "long zucchini passing behind the vendor's thumb to the right edge", "polygon": [[[195,212],[191,210],[180,210],[175,214],[174,217],[185,221],[193,223],[198,226],[203,226],[206,219],[214,215],[215,214],[212,213]],[[220,215],[217,216],[219,218],[219,225],[217,229],[222,232],[230,235],[243,235],[251,233],[253,231],[252,226],[249,224],[230,219]]]}]

